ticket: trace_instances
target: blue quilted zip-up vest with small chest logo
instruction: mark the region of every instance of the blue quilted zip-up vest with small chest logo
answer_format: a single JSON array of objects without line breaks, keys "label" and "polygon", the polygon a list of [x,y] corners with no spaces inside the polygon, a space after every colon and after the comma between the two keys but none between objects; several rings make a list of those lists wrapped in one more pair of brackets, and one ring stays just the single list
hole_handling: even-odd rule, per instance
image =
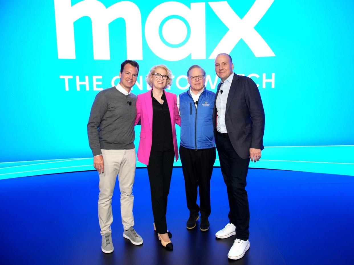
[{"label": "blue quilted zip-up vest with small chest logo", "polygon": [[195,150],[215,147],[212,120],[215,96],[214,92],[204,88],[196,108],[190,89],[179,95],[183,147]]}]

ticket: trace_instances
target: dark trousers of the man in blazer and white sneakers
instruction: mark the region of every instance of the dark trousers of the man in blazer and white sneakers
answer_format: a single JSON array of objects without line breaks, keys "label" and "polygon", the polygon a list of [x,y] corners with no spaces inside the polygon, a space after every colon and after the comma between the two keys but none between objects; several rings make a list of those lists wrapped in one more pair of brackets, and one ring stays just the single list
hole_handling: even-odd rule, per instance
[{"label": "dark trousers of the man in blazer and white sneakers", "polygon": [[248,240],[250,235],[250,210],[245,188],[250,159],[239,157],[227,135],[217,133],[215,144],[218,149],[221,172],[227,188],[230,223],[236,226],[236,238]]}]

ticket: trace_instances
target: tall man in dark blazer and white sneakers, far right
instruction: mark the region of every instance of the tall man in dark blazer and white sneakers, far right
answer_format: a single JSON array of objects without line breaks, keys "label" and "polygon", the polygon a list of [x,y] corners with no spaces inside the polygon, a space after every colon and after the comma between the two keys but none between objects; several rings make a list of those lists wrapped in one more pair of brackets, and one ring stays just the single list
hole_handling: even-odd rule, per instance
[{"label": "tall man in dark blazer and white sneakers, far right", "polygon": [[229,199],[229,223],[215,236],[236,235],[228,258],[240,259],[250,247],[250,210],[246,177],[250,163],[261,158],[264,110],[259,90],[251,78],[233,72],[230,55],[215,59],[215,72],[221,78],[213,111],[215,144]]}]

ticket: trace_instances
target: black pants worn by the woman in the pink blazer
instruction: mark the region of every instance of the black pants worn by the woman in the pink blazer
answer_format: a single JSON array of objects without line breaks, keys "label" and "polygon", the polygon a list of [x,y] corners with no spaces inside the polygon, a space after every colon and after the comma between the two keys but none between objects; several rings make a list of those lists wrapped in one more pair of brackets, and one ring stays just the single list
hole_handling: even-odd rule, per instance
[{"label": "black pants worn by the woman in the pink blazer", "polygon": [[149,165],[147,166],[154,222],[156,231],[159,234],[167,233],[167,195],[170,192],[174,157],[174,150],[164,152],[151,151]]}]

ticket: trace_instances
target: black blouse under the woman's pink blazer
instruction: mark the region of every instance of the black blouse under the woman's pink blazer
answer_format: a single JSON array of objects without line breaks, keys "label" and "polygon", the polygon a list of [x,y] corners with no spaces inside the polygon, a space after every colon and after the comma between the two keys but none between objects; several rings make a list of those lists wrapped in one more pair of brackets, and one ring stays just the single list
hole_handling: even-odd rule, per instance
[{"label": "black blouse under the woman's pink blazer", "polygon": [[151,98],[153,101],[153,143],[151,151],[173,150],[171,117],[165,91],[162,90],[161,96],[161,99],[164,100],[163,104],[160,104],[154,98],[153,90],[151,90]]}]

